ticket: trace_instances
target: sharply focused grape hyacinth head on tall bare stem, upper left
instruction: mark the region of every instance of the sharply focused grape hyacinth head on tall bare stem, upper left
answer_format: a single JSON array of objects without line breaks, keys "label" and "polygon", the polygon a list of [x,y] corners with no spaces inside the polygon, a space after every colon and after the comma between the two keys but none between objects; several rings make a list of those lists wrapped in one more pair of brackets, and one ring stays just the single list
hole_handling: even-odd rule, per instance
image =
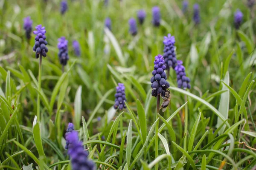
[{"label": "sharply focused grape hyacinth head on tall bare stem, upper left", "polygon": [[35,51],[35,57],[38,58],[40,55],[46,57],[46,53],[48,52],[48,48],[46,47],[47,41],[45,36],[45,27],[42,25],[38,25],[35,27],[36,31],[33,31],[35,36],[35,45],[33,47],[33,51]]}]

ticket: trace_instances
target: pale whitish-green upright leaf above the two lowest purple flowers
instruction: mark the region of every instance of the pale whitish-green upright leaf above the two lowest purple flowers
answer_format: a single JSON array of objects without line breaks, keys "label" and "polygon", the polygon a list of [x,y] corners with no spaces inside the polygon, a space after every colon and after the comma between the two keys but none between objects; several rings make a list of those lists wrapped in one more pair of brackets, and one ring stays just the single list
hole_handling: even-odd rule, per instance
[{"label": "pale whitish-green upright leaf above the two lowest purple flowers", "polygon": [[75,117],[74,117],[74,124],[76,129],[79,129],[80,122],[81,122],[81,110],[82,110],[82,86],[79,85],[76,96],[75,96],[75,102],[74,102],[74,110],[75,110]]}]

